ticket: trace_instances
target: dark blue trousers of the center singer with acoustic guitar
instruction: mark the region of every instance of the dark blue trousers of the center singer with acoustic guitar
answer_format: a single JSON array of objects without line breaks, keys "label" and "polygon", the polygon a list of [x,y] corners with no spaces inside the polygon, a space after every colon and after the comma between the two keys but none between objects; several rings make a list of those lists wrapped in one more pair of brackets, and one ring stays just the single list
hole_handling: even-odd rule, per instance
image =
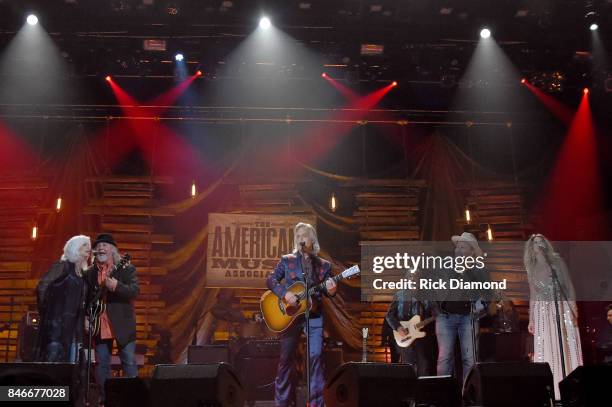
[{"label": "dark blue trousers of the center singer with acoustic guitar", "polygon": [[[296,323],[281,338],[281,354],[274,382],[274,401],[277,407],[287,407],[295,400],[295,351],[305,323]],[[324,406],[323,387],[323,318],[310,320],[310,406]]]}]

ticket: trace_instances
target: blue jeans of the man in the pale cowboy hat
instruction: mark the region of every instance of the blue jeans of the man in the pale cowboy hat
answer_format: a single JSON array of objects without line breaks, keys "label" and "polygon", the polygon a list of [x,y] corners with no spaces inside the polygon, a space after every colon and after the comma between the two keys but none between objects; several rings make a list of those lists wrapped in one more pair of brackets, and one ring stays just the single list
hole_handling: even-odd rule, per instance
[{"label": "blue jeans of the man in the pale cowboy hat", "polygon": [[[438,337],[438,375],[452,375],[455,367],[455,342],[459,337],[463,380],[474,366],[474,338],[470,314],[441,313],[436,318],[436,336]],[[478,319],[474,321],[478,337]]]}]

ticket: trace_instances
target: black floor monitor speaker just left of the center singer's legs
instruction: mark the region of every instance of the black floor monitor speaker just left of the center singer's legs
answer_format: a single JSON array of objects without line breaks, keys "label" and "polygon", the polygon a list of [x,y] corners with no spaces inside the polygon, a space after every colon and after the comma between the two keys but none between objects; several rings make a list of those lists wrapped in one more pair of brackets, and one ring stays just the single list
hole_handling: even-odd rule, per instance
[{"label": "black floor monitor speaker just left of the center singer's legs", "polygon": [[242,407],[244,404],[244,388],[227,363],[157,365],[150,394],[152,407]]}]

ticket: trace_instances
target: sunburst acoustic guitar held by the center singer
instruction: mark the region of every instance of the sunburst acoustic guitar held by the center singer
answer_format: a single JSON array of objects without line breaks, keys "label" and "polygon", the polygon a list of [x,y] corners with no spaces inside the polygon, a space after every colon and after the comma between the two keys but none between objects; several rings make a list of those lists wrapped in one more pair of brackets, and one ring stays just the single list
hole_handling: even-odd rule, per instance
[{"label": "sunburst acoustic guitar held by the center singer", "polygon": [[[355,274],[359,274],[360,272],[359,266],[354,265],[353,267],[344,270],[337,276],[331,277],[331,279],[338,282],[342,279],[354,276]],[[295,305],[289,305],[284,298],[278,298],[276,294],[270,290],[263,293],[259,301],[259,305],[261,307],[263,319],[268,328],[274,332],[283,332],[289,328],[289,326],[298,316],[306,312],[306,306],[308,306],[309,309],[312,309],[312,301],[310,301],[310,296],[317,290],[323,290],[327,280],[310,287],[308,289],[308,293],[306,293],[306,284],[303,282],[297,281],[291,284],[287,288],[287,292],[292,292],[298,297],[298,301]]]}]

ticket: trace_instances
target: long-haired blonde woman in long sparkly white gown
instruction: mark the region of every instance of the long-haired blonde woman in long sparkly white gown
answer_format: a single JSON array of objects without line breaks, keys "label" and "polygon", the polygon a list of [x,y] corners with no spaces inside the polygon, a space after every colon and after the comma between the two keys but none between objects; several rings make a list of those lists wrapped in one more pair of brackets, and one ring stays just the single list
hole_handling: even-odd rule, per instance
[{"label": "long-haired blonde woman in long sparkly white gown", "polygon": [[[565,262],[543,235],[531,235],[523,256],[529,277],[529,333],[534,337],[533,361],[548,362],[553,373],[555,398],[559,399],[559,382],[563,380],[562,363],[566,375],[582,365],[576,293]],[[559,287],[553,287],[552,273],[556,272]],[[561,341],[557,330],[559,306]],[[563,345],[561,360],[560,343]]]}]

